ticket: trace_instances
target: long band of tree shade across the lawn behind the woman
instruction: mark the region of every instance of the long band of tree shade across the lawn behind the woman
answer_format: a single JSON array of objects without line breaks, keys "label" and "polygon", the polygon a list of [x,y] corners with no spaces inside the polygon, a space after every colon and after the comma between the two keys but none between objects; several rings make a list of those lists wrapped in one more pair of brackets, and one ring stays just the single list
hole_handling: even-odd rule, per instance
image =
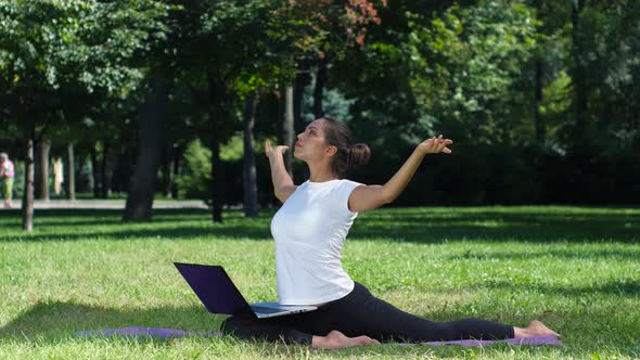
[{"label": "long band of tree shade across the lawn behind the woman", "polygon": [[[610,210],[610,213],[605,213]],[[149,224],[120,221],[121,210],[38,210],[36,229],[41,233],[1,234],[0,242],[88,240],[92,237],[230,237],[271,240],[270,220],[274,210],[267,209],[257,218],[243,218],[242,211],[225,213],[223,223],[212,223],[210,214],[199,209],[154,210]],[[617,213],[611,213],[617,211]],[[13,215],[12,215],[13,214]],[[15,211],[3,211],[0,221],[15,222]],[[13,217],[13,219],[12,219]],[[638,216],[624,210],[546,208],[525,210],[466,210],[439,208],[380,209],[362,213],[350,230],[349,240],[386,240],[414,243],[441,243],[460,240],[491,242],[637,242],[640,240]]]}]

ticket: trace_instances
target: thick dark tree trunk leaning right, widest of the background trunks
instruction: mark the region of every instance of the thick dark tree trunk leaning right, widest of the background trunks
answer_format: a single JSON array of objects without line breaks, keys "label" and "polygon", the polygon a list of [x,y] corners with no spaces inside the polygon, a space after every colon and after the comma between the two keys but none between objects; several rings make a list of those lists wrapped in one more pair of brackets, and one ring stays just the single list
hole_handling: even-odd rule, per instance
[{"label": "thick dark tree trunk leaning right, widest of the background trunks", "polygon": [[152,93],[140,106],[138,117],[139,149],[136,168],[129,182],[124,221],[150,220],[159,166],[168,102],[169,85],[163,76],[155,76]]}]

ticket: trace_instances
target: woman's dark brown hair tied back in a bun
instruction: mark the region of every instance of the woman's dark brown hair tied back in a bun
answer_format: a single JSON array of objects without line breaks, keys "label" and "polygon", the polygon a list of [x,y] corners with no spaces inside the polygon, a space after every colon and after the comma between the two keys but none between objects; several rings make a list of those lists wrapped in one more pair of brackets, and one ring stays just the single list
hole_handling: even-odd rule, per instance
[{"label": "woman's dark brown hair tied back in a bun", "polygon": [[364,143],[354,144],[354,137],[349,128],[342,121],[331,117],[321,117],[324,120],[324,140],[328,144],[337,147],[331,166],[336,173],[345,172],[349,166],[364,165],[371,157],[371,150]]}]

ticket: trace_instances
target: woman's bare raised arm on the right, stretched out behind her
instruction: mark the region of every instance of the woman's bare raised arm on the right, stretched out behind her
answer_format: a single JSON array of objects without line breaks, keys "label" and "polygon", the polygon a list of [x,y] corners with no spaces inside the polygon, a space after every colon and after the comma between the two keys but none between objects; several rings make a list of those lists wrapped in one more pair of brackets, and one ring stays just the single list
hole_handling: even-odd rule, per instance
[{"label": "woman's bare raised arm on the right, stretched out behind her", "polygon": [[349,209],[354,213],[361,213],[373,210],[384,204],[392,203],[407,188],[409,180],[411,180],[418,170],[424,155],[437,154],[439,152],[450,154],[451,150],[447,146],[452,143],[452,140],[443,139],[443,136],[421,142],[398,172],[384,185],[361,185],[356,188],[349,195]]}]

